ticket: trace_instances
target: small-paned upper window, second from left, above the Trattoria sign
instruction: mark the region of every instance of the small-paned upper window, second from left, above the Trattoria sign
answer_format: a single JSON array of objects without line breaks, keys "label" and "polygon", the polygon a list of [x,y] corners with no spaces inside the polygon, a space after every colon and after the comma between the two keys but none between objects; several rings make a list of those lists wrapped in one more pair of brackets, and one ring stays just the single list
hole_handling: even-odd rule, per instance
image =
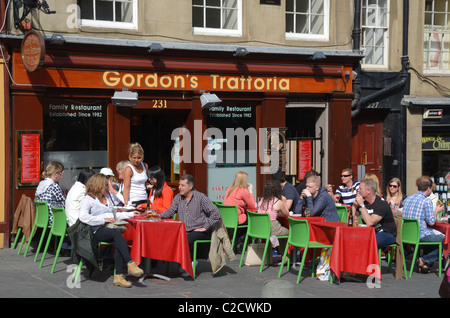
[{"label": "small-paned upper window, second from left, above the Trattoria sign", "polygon": [[192,26],[199,35],[242,35],[242,0],[192,0]]}]

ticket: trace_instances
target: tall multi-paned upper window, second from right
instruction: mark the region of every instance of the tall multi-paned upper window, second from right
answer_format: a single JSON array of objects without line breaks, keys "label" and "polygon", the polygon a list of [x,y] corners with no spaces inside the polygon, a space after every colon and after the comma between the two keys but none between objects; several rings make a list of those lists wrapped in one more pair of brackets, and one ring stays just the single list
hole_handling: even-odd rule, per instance
[{"label": "tall multi-paned upper window, second from right", "polygon": [[389,0],[363,0],[362,64],[387,67],[389,42]]}]

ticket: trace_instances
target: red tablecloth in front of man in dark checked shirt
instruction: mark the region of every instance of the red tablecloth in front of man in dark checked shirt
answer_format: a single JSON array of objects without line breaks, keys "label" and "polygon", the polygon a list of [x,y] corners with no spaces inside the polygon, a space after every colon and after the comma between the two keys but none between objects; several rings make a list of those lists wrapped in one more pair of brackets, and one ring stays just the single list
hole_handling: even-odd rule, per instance
[{"label": "red tablecloth in front of man in dark checked shirt", "polygon": [[176,262],[194,277],[184,222],[153,222],[142,217],[128,221],[123,236],[131,245],[130,255],[136,264],[141,263],[141,257]]}]

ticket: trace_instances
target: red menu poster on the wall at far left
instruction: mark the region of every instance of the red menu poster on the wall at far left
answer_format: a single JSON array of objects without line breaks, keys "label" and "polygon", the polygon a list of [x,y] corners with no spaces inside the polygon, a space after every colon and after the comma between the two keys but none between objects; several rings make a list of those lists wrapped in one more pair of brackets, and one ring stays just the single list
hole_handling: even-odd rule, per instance
[{"label": "red menu poster on the wall at far left", "polygon": [[20,135],[21,183],[39,182],[40,134]]}]

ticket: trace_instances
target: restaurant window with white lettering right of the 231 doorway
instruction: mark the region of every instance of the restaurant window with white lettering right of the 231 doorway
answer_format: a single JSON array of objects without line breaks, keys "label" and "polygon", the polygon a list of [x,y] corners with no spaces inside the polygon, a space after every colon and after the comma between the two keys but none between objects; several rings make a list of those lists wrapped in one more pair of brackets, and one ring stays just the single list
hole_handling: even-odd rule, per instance
[{"label": "restaurant window with white lettering right of the 231 doorway", "polygon": [[256,104],[222,102],[209,109],[207,126],[208,197],[222,201],[238,171],[248,174],[257,193]]}]

